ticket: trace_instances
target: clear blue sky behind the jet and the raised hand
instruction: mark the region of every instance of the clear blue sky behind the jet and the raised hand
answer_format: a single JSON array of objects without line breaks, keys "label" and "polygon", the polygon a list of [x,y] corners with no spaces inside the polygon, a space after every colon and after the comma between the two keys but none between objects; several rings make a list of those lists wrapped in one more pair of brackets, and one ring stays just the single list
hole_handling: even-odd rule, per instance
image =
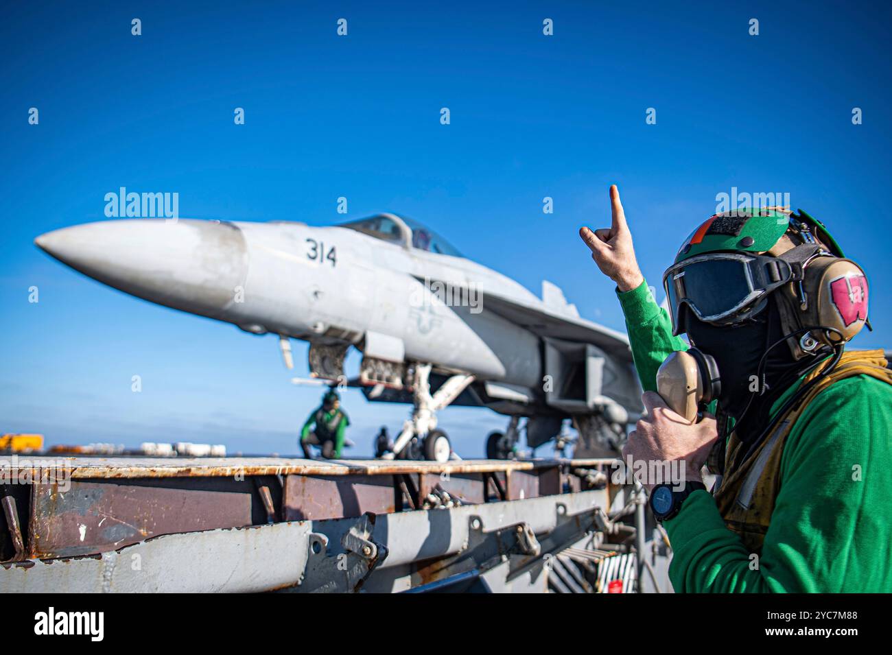
[{"label": "clear blue sky behind the jet and the raised hand", "polygon": [[[717,193],[789,192],[869,274],[875,332],[855,346],[892,346],[888,7],[119,2],[2,12],[0,431],[295,452],[319,391],[288,383],[275,338],[131,298],[33,245],[102,220],[104,194],[120,186],[178,192],[181,217],[312,225],[343,221],[345,196],[346,218],[414,217],[537,294],[543,278],[557,283],[583,316],[614,328],[623,321],[613,286],[576,236],[607,224],[608,184],[619,184],[657,284]],[[347,37],[336,35],[339,18]],[[656,125],[645,122],[651,107]],[[855,107],[863,125],[852,124]],[[545,196],[553,214],[542,213]],[[306,348],[294,348],[305,374]],[[142,393],[130,390],[134,374]],[[377,428],[396,431],[409,413],[358,391],[344,402],[351,454],[371,454]],[[485,434],[504,423],[487,410],[441,414],[464,456],[483,454]]]}]

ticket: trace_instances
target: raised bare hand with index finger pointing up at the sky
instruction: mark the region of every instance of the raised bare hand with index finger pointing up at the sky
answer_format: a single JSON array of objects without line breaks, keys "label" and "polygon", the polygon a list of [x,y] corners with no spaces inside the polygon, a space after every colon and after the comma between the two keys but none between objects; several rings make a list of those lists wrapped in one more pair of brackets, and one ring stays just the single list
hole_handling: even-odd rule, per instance
[{"label": "raised bare hand with index finger pointing up at the sky", "polygon": [[613,214],[610,227],[604,227],[592,231],[588,227],[582,227],[579,235],[591,249],[591,258],[601,269],[601,273],[607,275],[616,282],[620,291],[632,291],[637,289],[644,276],[635,259],[635,249],[632,247],[632,233],[625,222],[623,203],[619,201],[619,190],[616,184],[610,186],[610,205]]}]

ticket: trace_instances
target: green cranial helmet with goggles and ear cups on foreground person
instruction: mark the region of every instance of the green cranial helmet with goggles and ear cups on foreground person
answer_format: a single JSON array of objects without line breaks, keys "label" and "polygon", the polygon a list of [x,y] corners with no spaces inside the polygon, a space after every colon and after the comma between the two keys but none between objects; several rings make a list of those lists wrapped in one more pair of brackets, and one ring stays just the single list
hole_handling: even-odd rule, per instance
[{"label": "green cranial helmet with goggles and ear cups on foreground person", "polygon": [[663,286],[675,335],[688,331],[691,315],[719,326],[745,323],[772,293],[797,359],[870,327],[867,276],[802,209],[735,209],[710,217],[681,244]]}]

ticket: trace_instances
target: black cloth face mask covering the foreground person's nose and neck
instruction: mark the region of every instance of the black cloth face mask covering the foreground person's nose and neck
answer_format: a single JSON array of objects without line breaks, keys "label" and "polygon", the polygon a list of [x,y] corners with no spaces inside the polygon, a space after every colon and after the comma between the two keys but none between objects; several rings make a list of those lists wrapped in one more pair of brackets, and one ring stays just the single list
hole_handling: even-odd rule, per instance
[{"label": "black cloth face mask covering the foreground person's nose and neck", "polygon": [[[790,382],[795,380],[792,373],[797,371],[797,362],[786,343],[780,343],[765,357],[762,373],[768,389],[762,393],[760,360],[767,348],[783,336],[780,314],[773,299],[747,323],[717,327],[692,319],[688,326],[691,343],[715,359],[722,381],[718,402],[723,412],[738,422],[747,413],[747,421],[736,427],[738,437],[744,441],[747,435],[758,431],[762,422],[758,417],[763,414],[764,405],[770,408],[773,399],[786,388],[788,377]],[[750,405],[748,409],[747,405]]]}]

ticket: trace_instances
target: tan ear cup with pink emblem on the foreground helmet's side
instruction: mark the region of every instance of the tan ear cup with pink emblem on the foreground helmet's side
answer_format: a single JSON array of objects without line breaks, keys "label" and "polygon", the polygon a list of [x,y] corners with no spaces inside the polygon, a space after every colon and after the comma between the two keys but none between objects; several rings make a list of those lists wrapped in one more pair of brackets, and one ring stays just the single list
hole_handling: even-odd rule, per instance
[{"label": "tan ear cup with pink emblem on the foreground helmet's side", "polygon": [[819,257],[805,267],[805,325],[831,328],[813,336],[827,345],[852,339],[867,321],[868,283],[851,259]]}]

